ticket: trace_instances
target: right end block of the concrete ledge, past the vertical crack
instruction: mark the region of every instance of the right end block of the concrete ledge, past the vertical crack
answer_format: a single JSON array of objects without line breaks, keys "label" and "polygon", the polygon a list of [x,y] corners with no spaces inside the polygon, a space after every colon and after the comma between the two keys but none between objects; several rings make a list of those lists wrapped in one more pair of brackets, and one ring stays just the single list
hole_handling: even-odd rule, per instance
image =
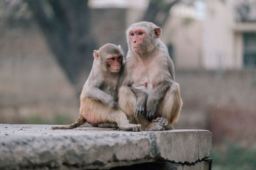
[{"label": "right end block of the concrete ledge, past the vertical crack", "polygon": [[172,135],[166,135],[166,131],[157,134],[157,145],[163,159],[172,160],[175,163],[193,164],[197,160],[209,157],[212,146],[212,134],[210,131],[173,131]]}]

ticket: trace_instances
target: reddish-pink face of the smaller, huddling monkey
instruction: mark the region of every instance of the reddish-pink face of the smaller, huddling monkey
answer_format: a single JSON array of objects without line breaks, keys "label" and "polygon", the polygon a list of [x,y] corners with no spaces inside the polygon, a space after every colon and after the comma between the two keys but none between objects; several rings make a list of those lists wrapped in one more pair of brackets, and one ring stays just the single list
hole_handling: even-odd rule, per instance
[{"label": "reddish-pink face of the smaller, huddling monkey", "polygon": [[107,59],[108,69],[111,73],[118,73],[121,69],[123,62],[123,55],[111,55]]}]

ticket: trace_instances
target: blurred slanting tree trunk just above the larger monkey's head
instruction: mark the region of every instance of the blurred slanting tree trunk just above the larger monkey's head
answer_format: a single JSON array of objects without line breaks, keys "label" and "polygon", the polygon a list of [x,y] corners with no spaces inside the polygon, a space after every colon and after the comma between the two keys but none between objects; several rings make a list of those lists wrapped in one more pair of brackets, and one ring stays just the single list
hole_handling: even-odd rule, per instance
[{"label": "blurred slanting tree trunk just above the larger monkey's head", "polygon": [[149,0],[147,11],[143,16],[143,20],[153,22],[163,27],[169,17],[169,11],[172,6],[180,0]]}]

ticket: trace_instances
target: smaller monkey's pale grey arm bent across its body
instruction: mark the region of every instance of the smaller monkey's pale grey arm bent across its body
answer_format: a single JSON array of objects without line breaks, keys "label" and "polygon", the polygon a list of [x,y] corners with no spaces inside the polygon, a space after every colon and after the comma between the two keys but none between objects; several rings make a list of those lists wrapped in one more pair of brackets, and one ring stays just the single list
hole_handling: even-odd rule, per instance
[{"label": "smaller monkey's pale grey arm bent across its body", "polygon": [[86,90],[86,96],[91,97],[92,99],[95,99],[97,101],[101,101],[102,103],[106,104],[110,108],[117,107],[117,102],[114,100],[114,97],[110,96],[103,90],[100,90],[98,87],[89,87]]}]

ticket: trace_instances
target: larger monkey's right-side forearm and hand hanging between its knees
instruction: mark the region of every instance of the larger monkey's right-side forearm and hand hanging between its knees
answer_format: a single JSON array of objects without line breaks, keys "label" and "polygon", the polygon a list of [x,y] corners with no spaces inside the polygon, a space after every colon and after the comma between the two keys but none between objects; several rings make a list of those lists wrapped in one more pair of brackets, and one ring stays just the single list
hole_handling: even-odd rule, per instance
[{"label": "larger monkey's right-side forearm and hand hanging between its knees", "polygon": [[156,114],[157,104],[163,99],[166,91],[170,88],[173,81],[162,81],[152,92],[148,95],[147,99],[147,118],[154,118]]}]

